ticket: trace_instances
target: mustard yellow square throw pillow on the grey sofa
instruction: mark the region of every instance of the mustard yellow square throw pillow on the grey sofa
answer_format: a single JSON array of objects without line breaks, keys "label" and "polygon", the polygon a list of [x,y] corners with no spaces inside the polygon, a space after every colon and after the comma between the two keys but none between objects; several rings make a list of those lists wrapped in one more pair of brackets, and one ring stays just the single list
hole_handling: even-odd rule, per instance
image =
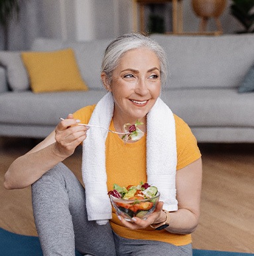
[{"label": "mustard yellow square throw pillow on the grey sofa", "polygon": [[21,53],[33,92],[88,90],[72,49]]}]

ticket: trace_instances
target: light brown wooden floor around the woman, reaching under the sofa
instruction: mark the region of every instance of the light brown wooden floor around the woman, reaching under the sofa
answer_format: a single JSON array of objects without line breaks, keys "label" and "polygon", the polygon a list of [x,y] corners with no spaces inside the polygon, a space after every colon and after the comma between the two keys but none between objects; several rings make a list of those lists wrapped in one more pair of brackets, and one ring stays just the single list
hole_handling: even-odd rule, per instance
[{"label": "light brown wooden floor around the woman, reaching under the sofa", "polygon": [[[36,142],[36,141],[35,141]],[[38,142],[38,141],[37,141]],[[0,183],[8,166],[34,140],[0,139]],[[203,159],[202,213],[193,247],[254,253],[254,144],[200,144]],[[65,161],[81,179],[81,149]],[[31,188],[0,186],[0,227],[36,235]]]}]

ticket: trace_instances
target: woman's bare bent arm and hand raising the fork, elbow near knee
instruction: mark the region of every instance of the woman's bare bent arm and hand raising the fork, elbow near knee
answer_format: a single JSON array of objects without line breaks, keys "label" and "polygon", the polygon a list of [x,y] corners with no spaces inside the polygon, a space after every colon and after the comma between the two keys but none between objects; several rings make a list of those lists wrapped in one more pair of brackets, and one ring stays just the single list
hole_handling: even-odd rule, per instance
[{"label": "woman's bare bent arm and hand raising the fork, elbow near knee", "polygon": [[69,115],[45,140],[17,158],[5,174],[5,188],[30,186],[56,164],[71,156],[76,147],[86,139],[88,130],[87,127],[76,124],[73,116]]}]

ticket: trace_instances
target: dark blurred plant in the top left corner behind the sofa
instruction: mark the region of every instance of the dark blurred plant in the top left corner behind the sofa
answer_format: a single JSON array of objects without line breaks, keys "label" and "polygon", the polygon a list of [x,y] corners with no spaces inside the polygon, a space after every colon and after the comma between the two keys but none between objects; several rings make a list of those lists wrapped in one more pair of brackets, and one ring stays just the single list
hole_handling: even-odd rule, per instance
[{"label": "dark blurred plant in the top left corner behind the sofa", "polygon": [[4,49],[8,49],[9,41],[9,21],[19,15],[19,0],[0,1],[0,25],[3,27]]}]

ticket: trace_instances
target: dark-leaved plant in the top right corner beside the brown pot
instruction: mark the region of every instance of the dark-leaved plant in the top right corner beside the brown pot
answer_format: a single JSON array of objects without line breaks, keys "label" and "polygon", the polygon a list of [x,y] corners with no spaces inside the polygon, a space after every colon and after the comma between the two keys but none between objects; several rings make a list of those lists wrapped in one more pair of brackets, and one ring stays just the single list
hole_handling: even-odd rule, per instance
[{"label": "dark-leaved plant in the top right corner beside the brown pot", "polygon": [[237,33],[254,33],[254,0],[232,0],[230,10],[244,27]]}]

